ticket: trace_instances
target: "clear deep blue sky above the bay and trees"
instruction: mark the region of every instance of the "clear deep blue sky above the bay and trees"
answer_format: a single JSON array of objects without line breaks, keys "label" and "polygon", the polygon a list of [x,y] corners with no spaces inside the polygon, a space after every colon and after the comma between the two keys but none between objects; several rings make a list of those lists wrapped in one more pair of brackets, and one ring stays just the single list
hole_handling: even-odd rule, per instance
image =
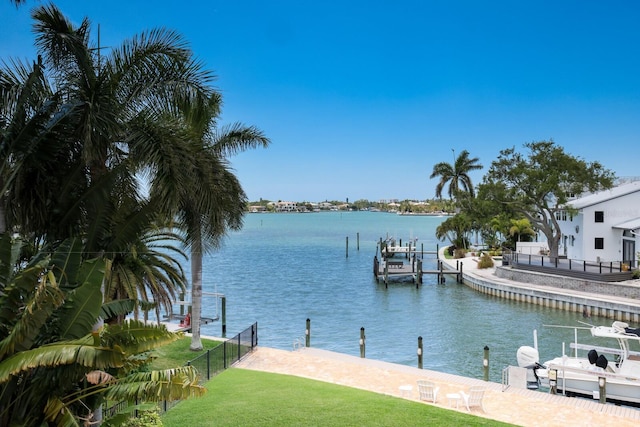
[{"label": "clear deep blue sky above the bay and trees", "polygon": [[[33,59],[30,1],[0,0],[0,58]],[[251,200],[434,197],[433,165],[553,139],[640,176],[640,2],[57,1],[102,44],[178,31],[218,79]],[[149,6],[152,5],[150,8]]]}]

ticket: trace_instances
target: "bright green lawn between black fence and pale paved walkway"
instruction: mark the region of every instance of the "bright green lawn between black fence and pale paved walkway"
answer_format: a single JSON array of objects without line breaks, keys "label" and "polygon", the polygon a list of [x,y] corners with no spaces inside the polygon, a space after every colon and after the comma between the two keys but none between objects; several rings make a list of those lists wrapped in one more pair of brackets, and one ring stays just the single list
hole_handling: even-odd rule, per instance
[{"label": "bright green lawn between black fence and pale paved walkway", "polygon": [[508,426],[398,397],[291,375],[229,369],[205,396],[178,403],[165,427],[199,426]]}]

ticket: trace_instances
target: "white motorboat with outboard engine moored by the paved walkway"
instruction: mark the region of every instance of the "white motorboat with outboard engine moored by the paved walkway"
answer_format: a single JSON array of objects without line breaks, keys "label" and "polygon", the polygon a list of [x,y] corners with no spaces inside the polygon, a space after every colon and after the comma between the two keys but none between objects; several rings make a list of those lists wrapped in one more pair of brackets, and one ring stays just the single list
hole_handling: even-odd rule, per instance
[{"label": "white motorboat with outboard engine moored by the paved walkway", "polygon": [[[600,398],[600,385],[605,386],[606,400],[638,406],[640,404],[640,328],[630,328],[627,323],[613,322],[611,326],[590,326],[592,337],[599,341],[617,342],[617,348],[578,344],[576,356],[563,355],[539,363],[538,351],[533,347],[518,349],[518,365],[533,371],[542,387],[550,387],[549,376],[556,376],[558,392]],[[577,332],[576,332],[577,337]],[[586,351],[586,357],[577,356],[578,350]],[[601,379],[604,379],[602,381]],[[529,388],[535,388],[530,384]]]}]

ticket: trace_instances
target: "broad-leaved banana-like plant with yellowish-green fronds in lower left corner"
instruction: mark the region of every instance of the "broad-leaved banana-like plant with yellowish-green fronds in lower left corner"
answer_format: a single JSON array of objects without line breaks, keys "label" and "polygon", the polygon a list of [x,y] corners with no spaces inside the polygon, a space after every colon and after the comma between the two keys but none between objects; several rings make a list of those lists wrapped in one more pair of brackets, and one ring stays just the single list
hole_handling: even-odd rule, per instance
[{"label": "broad-leaved banana-like plant with yellowish-green fronds in lower left corner", "polygon": [[132,321],[92,333],[128,304],[102,304],[104,262],[83,261],[79,239],[30,260],[22,247],[0,237],[1,425],[80,426],[105,399],[134,406],[204,393],[190,367],[139,371],[148,350],[178,338],[163,326]]}]

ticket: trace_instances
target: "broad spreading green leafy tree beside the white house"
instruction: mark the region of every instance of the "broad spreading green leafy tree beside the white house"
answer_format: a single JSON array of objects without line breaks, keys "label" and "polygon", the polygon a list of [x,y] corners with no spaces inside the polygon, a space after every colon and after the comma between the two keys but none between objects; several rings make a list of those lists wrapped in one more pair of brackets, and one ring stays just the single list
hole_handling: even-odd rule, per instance
[{"label": "broad spreading green leafy tree beside the white house", "polygon": [[555,214],[566,209],[568,195],[611,188],[615,175],[599,162],[565,153],[553,141],[524,146],[528,155],[509,148],[493,161],[482,184],[485,197],[528,219],[546,236],[551,257],[557,257],[561,233]]}]

